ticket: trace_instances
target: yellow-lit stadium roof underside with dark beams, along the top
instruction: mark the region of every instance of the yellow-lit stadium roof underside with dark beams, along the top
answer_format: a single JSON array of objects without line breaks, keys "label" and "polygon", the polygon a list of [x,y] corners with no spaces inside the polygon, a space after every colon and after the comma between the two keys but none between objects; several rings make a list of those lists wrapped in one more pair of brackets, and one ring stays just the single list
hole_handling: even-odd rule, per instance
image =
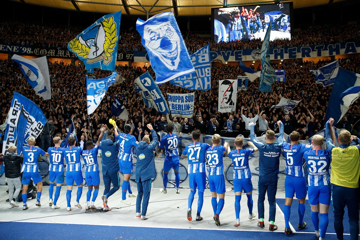
[{"label": "yellow-lit stadium roof underside with dark beams, along the top", "polygon": [[329,4],[344,0],[12,0],[21,3],[49,6],[85,12],[114,13],[122,11],[129,15],[155,15],[173,11],[175,15],[211,15],[211,8],[247,4],[293,2],[294,8]]}]

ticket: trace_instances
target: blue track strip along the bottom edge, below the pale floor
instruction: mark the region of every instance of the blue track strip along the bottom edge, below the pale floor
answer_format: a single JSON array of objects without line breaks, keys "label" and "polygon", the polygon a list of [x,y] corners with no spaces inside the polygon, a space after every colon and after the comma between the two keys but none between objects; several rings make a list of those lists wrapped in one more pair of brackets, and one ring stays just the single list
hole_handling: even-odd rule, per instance
[{"label": "blue track strip along the bottom edge, below the pale floor", "polygon": [[[121,219],[119,219],[121,221]],[[149,220],[151,221],[151,220]],[[156,223],[154,223],[155,225]],[[293,234],[286,236],[280,229],[277,232],[254,231],[221,231],[196,230],[176,228],[152,227],[118,227],[99,225],[76,225],[58,223],[28,223],[9,222],[0,223],[1,240],[36,239],[36,240],[177,240],[177,239],[296,239],[316,240],[312,234]],[[350,236],[346,236],[350,239]],[[335,235],[328,235],[327,240],[336,239]]]}]

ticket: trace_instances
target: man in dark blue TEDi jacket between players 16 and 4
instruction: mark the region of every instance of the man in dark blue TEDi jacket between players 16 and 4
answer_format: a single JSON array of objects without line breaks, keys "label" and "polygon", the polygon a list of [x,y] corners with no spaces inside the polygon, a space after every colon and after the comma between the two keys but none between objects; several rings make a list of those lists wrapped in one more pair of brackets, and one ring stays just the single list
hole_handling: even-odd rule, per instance
[{"label": "man in dark blue TEDi jacket between players 16 and 4", "polygon": [[[118,142],[114,142],[114,136],[108,136],[107,139],[100,142],[99,149],[101,150],[101,165],[102,173],[104,180],[104,195],[101,197],[103,199],[104,210],[111,210],[108,206],[108,198],[113,195],[120,188],[120,178],[119,178],[119,163],[118,163],[118,153],[119,145]],[[113,188],[110,190],[111,183]]]}]

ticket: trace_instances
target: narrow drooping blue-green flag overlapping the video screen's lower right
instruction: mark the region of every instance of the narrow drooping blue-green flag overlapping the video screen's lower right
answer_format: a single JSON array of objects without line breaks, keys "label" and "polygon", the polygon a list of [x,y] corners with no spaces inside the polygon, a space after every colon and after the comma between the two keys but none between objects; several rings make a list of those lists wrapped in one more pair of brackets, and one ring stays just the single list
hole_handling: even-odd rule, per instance
[{"label": "narrow drooping blue-green flag overlapping the video screen's lower right", "polygon": [[[270,24],[271,26],[271,20]],[[260,92],[271,92],[271,85],[278,80],[275,74],[275,69],[271,66],[270,62],[270,52],[269,52],[269,43],[270,43],[270,27],[267,28],[264,41],[261,46],[261,74],[260,74],[260,83],[259,91]]]}]

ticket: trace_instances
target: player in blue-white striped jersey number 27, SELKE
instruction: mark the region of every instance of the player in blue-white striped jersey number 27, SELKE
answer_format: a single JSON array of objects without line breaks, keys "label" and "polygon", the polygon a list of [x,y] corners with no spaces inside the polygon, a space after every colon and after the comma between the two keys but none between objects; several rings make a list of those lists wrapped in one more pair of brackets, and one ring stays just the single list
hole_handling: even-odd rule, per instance
[{"label": "player in blue-white striped jersey number 27, SELKE", "polygon": [[198,189],[198,211],[196,214],[196,221],[201,221],[203,218],[200,216],[202,205],[204,203],[204,191],[206,189],[206,170],[205,170],[205,155],[206,150],[211,148],[209,144],[200,142],[200,131],[192,132],[193,143],[185,147],[182,158],[188,158],[188,173],[189,173],[189,186],[190,194],[188,199],[188,213],[187,219],[192,221],[191,206],[193,205],[194,195]]}]

